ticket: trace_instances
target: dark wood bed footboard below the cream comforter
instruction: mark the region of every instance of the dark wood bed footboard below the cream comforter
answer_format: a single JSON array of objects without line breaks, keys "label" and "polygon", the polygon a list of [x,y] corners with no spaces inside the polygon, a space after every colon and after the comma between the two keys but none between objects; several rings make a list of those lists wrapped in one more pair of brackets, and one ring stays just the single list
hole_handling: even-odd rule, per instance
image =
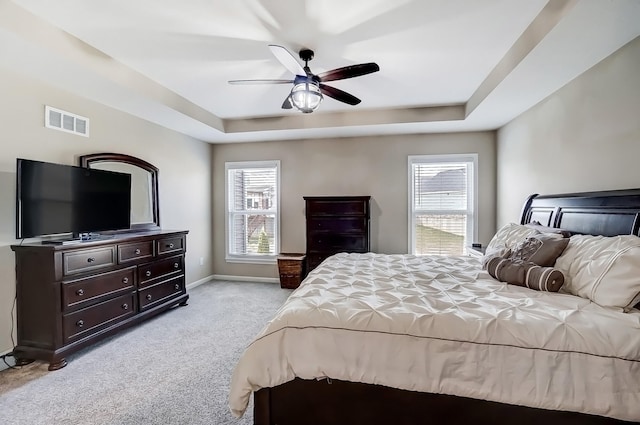
[{"label": "dark wood bed footboard below the cream comforter", "polygon": [[303,380],[254,393],[255,425],[622,425],[631,422],[339,380]]}]

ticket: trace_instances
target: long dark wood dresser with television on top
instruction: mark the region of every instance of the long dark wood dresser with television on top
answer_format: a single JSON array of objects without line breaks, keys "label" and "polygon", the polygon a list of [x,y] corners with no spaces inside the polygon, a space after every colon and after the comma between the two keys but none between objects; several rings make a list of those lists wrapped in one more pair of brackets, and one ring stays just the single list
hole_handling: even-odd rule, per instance
[{"label": "long dark wood dresser with television on top", "polygon": [[65,357],[177,304],[186,305],[188,231],[117,234],[70,245],[12,245],[16,362]]}]

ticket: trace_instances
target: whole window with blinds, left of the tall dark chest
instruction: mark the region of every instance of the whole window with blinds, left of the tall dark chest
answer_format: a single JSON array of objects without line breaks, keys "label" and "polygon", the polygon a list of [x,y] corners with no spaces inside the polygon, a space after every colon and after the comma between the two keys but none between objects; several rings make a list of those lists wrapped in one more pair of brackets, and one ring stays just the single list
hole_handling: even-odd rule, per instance
[{"label": "whole window with blinds, left of the tall dark chest", "polygon": [[280,161],[227,162],[229,262],[273,263],[279,251]]}]

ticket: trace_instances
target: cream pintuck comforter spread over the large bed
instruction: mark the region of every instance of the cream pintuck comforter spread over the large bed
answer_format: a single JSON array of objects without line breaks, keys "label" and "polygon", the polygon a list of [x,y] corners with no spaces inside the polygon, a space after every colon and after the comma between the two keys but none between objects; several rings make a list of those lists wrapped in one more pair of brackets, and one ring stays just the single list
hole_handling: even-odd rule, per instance
[{"label": "cream pintuck comforter spread over the large bed", "polygon": [[230,408],[295,377],[640,420],[640,312],[492,279],[471,257],[337,254],[233,374]]}]

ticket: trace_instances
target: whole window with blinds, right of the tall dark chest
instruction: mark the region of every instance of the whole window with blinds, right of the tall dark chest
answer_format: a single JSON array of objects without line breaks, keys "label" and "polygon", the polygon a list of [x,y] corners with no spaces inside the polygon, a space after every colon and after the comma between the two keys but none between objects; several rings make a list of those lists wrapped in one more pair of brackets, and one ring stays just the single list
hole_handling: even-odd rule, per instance
[{"label": "whole window with blinds, right of the tall dark chest", "polygon": [[477,154],[409,156],[409,252],[464,255],[476,235]]}]

